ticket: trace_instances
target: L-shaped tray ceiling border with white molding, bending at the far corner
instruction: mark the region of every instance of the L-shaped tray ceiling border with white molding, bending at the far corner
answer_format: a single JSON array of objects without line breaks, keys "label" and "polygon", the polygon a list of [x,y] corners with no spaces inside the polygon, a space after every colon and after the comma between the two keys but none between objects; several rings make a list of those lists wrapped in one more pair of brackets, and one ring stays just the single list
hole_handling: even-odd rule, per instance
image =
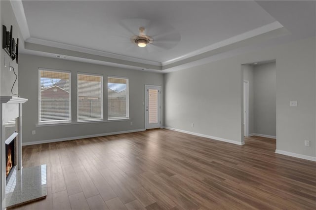
[{"label": "L-shaped tray ceiling border with white molding, bending at the far corner", "polygon": [[[99,65],[106,65],[106,66],[114,66],[120,68],[127,68],[127,69],[136,69],[136,70],[147,70],[153,72],[161,72],[161,73],[168,73],[176,70],[186,69],[188,67],[198,66],[205,63],[210,63],[215,60],[220,60],[225,57],[230,57],[232,54],[237,55],[239,53],[245,52],[245,47],[249,48],[250,45],[258,45],[260,42],[267,41],[272,38],[280,37],[283,35],[290,35],[291,33],[286,30],[284,27],[278,28],[273,31],[269,31],[264,34],[259,34],[252,36],[250,38],[243,39],[241,41],[235,41],[232,44],[228,44],[223,47],[218,47],[214,50],[206,51],[201,54],[197,54],[196,56],[189,57],[180,61],[175,61],[169,65],[165,66],[157,66],[157,65],[150,65],[145,64],[142,62],[132,62],[126,59],[116,59],[105,57],[103,55],[95,55],[85,52],[79,52],[78,50],[67,50],[60,47],[55,47],[55,42],[51,42],[50,45],[54,46],[47,46],[46,40],[40,42],[41,44],[31,43],[33,38],[29,38],[25,42],[25,49],[21,50],[22,53],[25,54],[33,54],[39,56],[46,56],[56,58],[56,55],[64,55],[65,57],[61,57],[61,59],[66,60],[73,60],[85,63],[94,63]],[[37,41],[41,39],[36,39]],[[46,43],[46,44],[45,44]],[[262,46],[262,44],[261,44]],[[264,44],[267,46],[267,43]],[[249,49],[248,49],[249,50]],[[92,50],[93,51],[93,50]]]}]

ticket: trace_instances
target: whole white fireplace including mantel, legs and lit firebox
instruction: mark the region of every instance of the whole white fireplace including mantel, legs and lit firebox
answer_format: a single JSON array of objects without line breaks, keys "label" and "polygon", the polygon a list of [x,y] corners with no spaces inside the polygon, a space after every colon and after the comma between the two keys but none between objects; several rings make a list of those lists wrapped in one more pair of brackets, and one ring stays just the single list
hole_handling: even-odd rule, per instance
[{"label": "whole white fireplace including mantel, legs and lit firebox", "polygon": [[[24,185],[14,177],[22,173],[22,104],[27,99],[15,96],[0,96],[0,208],[5,210],[11,201],[16,200],[20,194],[7,194],[6,185],[15,184],[12,190]],[[25,178],[25,176],[23,176]],[[22,180],[22,179],[21,179]],[[32,183],[27,180],[27,182]],[[11,184],[11,186],[13,186]],[[23,188],[25,189],[25,188]],[[32,193],[32,192],[31,192]],[[29,194],[31,194],[29,193]],[[12,202],[11,202],[12,203]]]}]

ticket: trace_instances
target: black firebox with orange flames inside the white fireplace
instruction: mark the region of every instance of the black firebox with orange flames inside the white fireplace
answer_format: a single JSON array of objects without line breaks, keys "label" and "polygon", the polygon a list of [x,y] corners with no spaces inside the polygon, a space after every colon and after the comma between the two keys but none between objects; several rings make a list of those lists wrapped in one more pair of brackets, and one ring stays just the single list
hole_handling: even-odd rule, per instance
[{"label": "black firebox with orange flames inside the white fireplace", "polygon": [[12,171],[14,170],[14,167],[16,165],[15,163],[15,140],[16,137],[11,140],[11,142],[6,141],[5,142],[5,177],[6,182],[9,180]]}]

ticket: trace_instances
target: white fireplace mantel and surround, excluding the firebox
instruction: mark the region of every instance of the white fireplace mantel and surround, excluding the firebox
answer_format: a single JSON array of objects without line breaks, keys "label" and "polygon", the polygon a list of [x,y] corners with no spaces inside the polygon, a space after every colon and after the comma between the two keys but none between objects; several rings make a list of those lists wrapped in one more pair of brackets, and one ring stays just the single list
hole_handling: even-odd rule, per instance
[{"label": "white fireplace mantel and surround, excluding the firebox", "polygon": [[16,97],[16,96],[0,96],[0,198],[1,198],[1,210],[5,209],[5,186],[6,186],[6,177],[5,177],[5,124],[11,120],[16,119],[16,131],[17,136],[17,145],[16,145],[16,169],[20,170],[22,168],[22,104],[27,102],[28,99]]}]

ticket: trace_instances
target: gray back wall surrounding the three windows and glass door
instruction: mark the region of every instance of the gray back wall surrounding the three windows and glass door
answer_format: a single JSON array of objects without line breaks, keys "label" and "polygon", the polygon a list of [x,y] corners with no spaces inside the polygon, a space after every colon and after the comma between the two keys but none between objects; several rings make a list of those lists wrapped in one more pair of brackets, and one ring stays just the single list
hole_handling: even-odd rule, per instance
[{"label": "gray back wall surrounding the three windows and glass door", "polygon": [[[127,70],[115,67],[66,61],[62,59],[46,58],[33,55],[20,55],[19,71],[19,94],[23,98],[29,99],[22,106],[23,124],[23,143],[56,140],[74,139],[81,136],[98,135],[120,131],[139,130],[145,128],[145,84],[159,85],[162,87],[163,104],[163,75],[138,70]],[[129,79],[129,117],[130,120],[98,122],[98,123],[79,123],[67,125],[40,125],[38,124],[38,83],[39,68],[70,70],[72,73],[71,92],[72,92],[72,120],[77,121],[77,72],[98,73],[104,79],[104,114],[107,119],[107,76],[123,76]],[[162,107],[163,108],[163,107]],[[163,109],[161,110],[163,113]],[[133,125],[130,125],[133,122]],[[163,123],[163,119],[161,119]],[[32,131],[36,135],[32,135]]]}]

